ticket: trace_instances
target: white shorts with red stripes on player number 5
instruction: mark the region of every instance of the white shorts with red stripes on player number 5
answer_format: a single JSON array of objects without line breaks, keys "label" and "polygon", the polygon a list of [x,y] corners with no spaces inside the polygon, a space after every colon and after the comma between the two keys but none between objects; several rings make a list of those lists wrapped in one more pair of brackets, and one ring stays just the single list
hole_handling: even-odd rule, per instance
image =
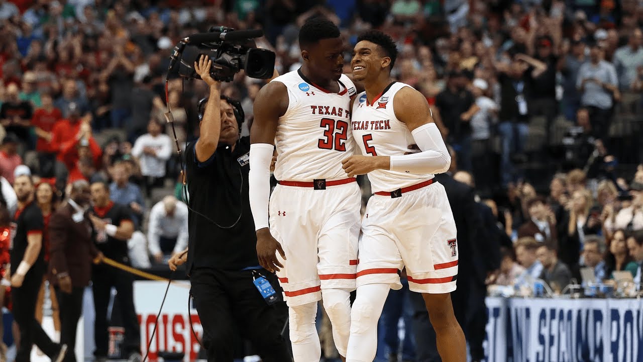
[{"label": "white shorts with red stripes on player number 5", "polygon": [[410,290],[455,291],[455,221],[444,186],[429,182],[394,198],[373,195],[368,200],[359,240],[358,286],[390,283],[392,289],[400,289],[399,274],[406,266]]}]

